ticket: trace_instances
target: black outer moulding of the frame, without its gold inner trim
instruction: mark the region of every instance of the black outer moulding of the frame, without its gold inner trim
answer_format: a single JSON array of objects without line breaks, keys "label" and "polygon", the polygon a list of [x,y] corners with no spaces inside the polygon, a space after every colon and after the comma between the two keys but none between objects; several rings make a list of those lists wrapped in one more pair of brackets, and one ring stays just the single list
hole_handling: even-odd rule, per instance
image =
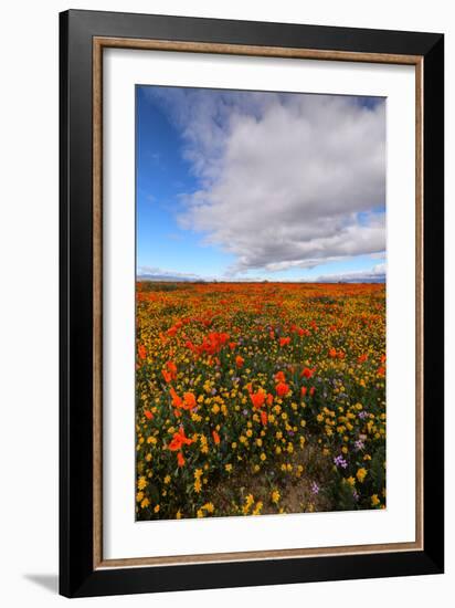
[{"label": "black outer moulding of the frame, without its gold inner trim", "polygon": [[[93,36],[424,59],[424,549],[93,567]],[[70,10],[60,14],[60,593],[66,597],[440,574],[444,568],[444,36]]]}]

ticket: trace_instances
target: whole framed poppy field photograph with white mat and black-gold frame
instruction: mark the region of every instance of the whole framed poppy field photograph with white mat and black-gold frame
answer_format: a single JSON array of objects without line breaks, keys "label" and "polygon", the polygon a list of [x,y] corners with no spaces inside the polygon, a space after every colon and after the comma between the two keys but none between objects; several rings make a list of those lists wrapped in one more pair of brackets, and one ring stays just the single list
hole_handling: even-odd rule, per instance
[{"label": "whole framed poppy field photograph with white mat and black-gold frame", "polygon": [[443,35],[60,31],[61,593],[442,573]]}]

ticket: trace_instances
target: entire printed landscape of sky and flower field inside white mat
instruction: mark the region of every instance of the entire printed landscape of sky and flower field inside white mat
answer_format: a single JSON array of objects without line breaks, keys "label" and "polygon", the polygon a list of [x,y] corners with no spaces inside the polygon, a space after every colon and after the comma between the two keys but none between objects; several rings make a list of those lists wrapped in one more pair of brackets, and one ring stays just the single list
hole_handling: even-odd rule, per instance
[{"label": "entire printed landscape of sky and flower field inside white mat", "polygon": [[385,507],[385,99],[136,86],[136,520]]}]

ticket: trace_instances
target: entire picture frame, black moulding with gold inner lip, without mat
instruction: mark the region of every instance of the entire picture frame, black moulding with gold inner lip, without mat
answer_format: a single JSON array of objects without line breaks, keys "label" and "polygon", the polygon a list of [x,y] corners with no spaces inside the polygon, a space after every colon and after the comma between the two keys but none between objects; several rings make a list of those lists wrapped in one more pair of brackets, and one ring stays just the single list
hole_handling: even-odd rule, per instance
[{"label": "entire picture frame, black moulding with gold inner lip, without mat", "polygon": [[[105,559],[102,126],[103,53],[112,48],[415,70],[413,542]],[[70,10],[60,15],[60,593],[86,597],[443,573],[443,34]]]}]

